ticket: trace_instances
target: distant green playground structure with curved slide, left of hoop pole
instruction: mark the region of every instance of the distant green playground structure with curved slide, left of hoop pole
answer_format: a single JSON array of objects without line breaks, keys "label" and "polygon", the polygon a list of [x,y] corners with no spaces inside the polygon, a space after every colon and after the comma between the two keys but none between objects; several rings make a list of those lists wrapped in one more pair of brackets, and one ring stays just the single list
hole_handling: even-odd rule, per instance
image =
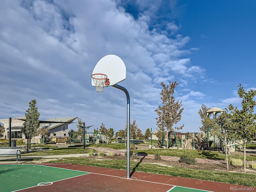
[{"label": "distant green playground structure with curved slide, left of hoop pole", "polygon": [[[85,133],[85,140],[84,144],[89,145],[89,144],[100,144],[100,143],[106,143],[109,144],[108,137],[104,134],[99,133]],[[70,134],[70,146],[73,143],[81,142],[81,140],[76,140],[75,139],[75,134],[71,133]]]}]

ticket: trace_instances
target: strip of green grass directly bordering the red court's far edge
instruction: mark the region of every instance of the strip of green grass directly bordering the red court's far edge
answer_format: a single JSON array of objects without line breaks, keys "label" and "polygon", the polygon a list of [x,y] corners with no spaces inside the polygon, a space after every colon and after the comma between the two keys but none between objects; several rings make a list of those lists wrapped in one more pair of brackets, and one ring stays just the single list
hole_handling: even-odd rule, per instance
[{"label": "strip of green grass directly bordering the red court's far edge", "polygon": [[[60,160],[54,160],[50,163],[71,163],[88,166],[97,166],[104,168],[112,168],[119,170],[126,170],[126,160],[97,160],[91,158],[63,158]],[[145,172],[152,174],[162,174],[169,176],[177,176],[183,178],[193,178],[199,180],[207,180],[214,182],[223,182],[244,186],[256,186],[256,175],[233,173],[224,171],[208,171],[208,170],[195,170],[189,168],[180,167],[168,167],[149,163],[138,163],[130,161],[130,171]]]}]

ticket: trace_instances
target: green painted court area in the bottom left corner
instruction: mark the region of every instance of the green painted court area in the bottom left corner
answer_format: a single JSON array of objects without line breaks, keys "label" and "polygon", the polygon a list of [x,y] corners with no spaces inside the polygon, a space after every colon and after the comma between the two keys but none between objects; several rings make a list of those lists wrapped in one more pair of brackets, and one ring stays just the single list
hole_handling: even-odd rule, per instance
[{"label": "green painted court area in the bottom left corner", "polygon": [[89,174],[35,164],[0,165],[1,192],[16,191]]}]

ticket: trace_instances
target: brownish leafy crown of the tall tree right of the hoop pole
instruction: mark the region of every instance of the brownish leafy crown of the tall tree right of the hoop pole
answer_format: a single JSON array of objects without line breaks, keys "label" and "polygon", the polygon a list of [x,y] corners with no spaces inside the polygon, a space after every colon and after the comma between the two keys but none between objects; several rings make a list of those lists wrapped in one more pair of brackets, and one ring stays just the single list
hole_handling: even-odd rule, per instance
[{"label": "brownish leafy crown of the tall tree right of the hoop pole", "polygon": [[[160,93],[161,99],[162,99],[162,106],[158,106],[158,109],[155,111],[158,114],[157,120],[157,126],[160,130],[169,130],[174,131],[174,124],[177,124],[181,120],[181,113],[184,108],[182,107],[182,102],[175,101],[174,98],[174,89],[178,83],[175,82],[169,82],[168,86],[165,86],[165,84],[162,82],[161,86],[163,87],[162,92]],[[175,127],[175,129],[182,129],[184,127],[184,124],[180,127]]]}]

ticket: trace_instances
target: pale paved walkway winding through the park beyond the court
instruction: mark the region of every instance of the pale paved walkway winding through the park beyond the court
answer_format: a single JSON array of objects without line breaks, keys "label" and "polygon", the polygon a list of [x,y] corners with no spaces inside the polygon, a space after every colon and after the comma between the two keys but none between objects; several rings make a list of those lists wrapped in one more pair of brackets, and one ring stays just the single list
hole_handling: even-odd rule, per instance
[{"label": "pale paved walkway winding through the park beyond the court", "polygon": [[[126,150],[116,150],[112,148],[102,148],[102,147],[94,147],[93,149],[97,150],[98,152],[104,152],[106,154],[108,153],[114,153],[114,154],[120,154],[125,155]],[[88,156],[88,154],[67,154],[67,155],[43,155],[43,156],[22,156],[21,160],[24,162],[27,158],[65,158],[65,157],[80,157],[80,156]],[[154,155],[150,154],[138,154],[140,158],[150,158],[154,159]],[[179,157],[172,157],[172,156],[161,156],[162,160],[170,160],[170,161],[178,161]],[[10,160],[15,161],[10,161]],[[16,163],[16,157],[0,157],[0,160],[9,160],[9,161],[0,161],[0,164],[10,164],[10,163]],[[214,159],[200,159],[196,158],[197,162],[200,163],[215,163],[215,164],[226,164],[225,160],[214,160]]]}]

